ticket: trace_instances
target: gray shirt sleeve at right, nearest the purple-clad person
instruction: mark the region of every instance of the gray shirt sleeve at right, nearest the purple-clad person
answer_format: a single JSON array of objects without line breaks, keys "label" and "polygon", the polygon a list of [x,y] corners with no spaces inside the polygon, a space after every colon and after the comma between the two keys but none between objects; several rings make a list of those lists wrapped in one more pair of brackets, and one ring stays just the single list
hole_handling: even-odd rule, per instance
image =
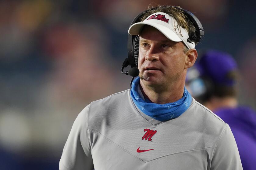
[{"label": "gray shirt sleeve at right, nearest the purple-clad person", "polygon": [[227,124],[215,148],[211,163],[211,170],[242,169],[236,141],[229,125]]}]

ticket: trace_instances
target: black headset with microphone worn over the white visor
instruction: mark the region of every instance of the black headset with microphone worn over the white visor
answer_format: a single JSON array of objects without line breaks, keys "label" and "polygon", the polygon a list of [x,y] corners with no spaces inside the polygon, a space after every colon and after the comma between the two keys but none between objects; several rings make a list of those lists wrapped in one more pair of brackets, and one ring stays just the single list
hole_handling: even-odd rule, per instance
[{"label": "black headset with microphone worn over the white visor", "polygon": [[[202,36],[204,36],[204,29],[203,29],[203,26],[201,24],[201,22],[199,21],[199,19],[197,19],[197,17],[192,14],[191,12],[185,10],[185,9],[182,9],[180,8],[179,6],[161,6],[161,8],[166,8],[166,7],[174,7],[176,9],[179,9],[181,11],[183,11],[184,15],[187,17],[187,19],[193,23],[193,25],[195,26],[196,28],[196,31],[194,33],[190,33],[189,34],[189,38],[187,39],[188,42],[192,43],[195,42],[195,43],[198,43],[200,42]],[[159,7],[154,7],[154,8],[150,8],[150,9],[147,9],[143,12],[141,12],[139,15],[137,15],[135,17],[135,19],[133,19],[133,22],[130,24],[133,25],[134,23],[137,23],[137,22],[140,22],[140,18],[146,14],[148,11],[150,10],[154,10],[154,9],[157,9]],[[140,41],[140,38],[139,36],[133,36],[133,35],[130,35],[128,34],[128,42],[127,42],[127,53],[128,53],[128,58],[126,58],[123,62],[123,65],[122,65],[122,69],[121,69],[121,73],[123,74],[126,74],[126,75],[130,75],[133,77],[137,77],[139,75],[139,70],[137,69],[138,67],[138,57],[139,57],[139,41]],[[126,71],[126,72],[123,72],[123,69],[125,67],[127,67],[128,65],[131,66],[131,69],[129,71]],[[131,82],[133,81],[133,79],[131,80]]]}]

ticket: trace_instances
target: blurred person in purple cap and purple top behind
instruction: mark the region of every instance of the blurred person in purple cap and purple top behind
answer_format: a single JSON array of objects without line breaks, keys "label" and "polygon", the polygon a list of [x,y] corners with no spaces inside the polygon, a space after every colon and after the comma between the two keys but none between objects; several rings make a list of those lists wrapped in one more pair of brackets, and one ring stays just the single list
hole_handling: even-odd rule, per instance
[{"label": "blurred person in purple cap and purple top behind", "polygon": [[188,71],[186,87],[196,100],[229,124],[243,169],[253,170],[256,167],[256,113],[251,108],[238,105],[238,74],[232,56],[209,50]]}]

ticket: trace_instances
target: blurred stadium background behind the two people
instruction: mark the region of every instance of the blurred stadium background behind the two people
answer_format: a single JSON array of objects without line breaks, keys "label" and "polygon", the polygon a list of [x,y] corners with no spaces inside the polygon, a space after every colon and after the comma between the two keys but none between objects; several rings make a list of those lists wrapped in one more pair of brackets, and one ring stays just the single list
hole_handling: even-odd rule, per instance
[{"label": "blurred stadium background behind the two people", "polygon": [[148,5],[180,5],[201,21],[198,53],[239,64],[240,104],[256,109],[256,2],[1,0],[0,169],[58,169],[72,124],[91,101],[129,88],[127,31]]}]

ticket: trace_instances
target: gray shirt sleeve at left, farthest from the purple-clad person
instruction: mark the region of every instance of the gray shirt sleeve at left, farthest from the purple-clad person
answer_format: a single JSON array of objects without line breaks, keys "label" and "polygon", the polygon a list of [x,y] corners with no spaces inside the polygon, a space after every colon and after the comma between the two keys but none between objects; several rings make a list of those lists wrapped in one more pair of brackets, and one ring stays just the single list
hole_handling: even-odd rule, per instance
[{"label": "gray shirt sleeve at left, farthest from the purple-clad person", "polygon": [[76,117],[59,161],[60,170],[93,169],[87,131],[88,107],[89,105]]}]

